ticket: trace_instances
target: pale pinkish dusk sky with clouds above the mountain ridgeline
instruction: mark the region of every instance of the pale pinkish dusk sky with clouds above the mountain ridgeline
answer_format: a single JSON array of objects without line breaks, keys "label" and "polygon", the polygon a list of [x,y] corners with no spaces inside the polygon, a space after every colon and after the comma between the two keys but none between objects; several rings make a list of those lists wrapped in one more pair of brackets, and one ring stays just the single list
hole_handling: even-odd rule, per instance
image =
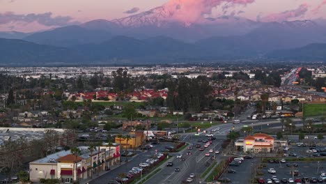
[{"label": "pale pinkish dusk sky with clouds above the mountain ridgeline", "polygon": [[176,20],[231,15],[261,22],[326,19],[326,0],[0,0],[0,31],[42,31],[91,20],[114,20],[157,6]]}]

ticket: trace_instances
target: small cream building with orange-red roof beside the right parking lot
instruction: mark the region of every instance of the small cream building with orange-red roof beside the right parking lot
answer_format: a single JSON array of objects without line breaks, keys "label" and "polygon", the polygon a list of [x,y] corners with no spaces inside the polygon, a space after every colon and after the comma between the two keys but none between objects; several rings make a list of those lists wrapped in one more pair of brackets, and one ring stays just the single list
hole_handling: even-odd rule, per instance
[{"label": "small cream building with orange-red roof beside the right parking lot", "polygon": [[260,153],[265,151],[270,153],[274,150],[274,138],[267,134],[257,133],[239,139],[235,142],[235,146],[242,148],[244,152]]}]

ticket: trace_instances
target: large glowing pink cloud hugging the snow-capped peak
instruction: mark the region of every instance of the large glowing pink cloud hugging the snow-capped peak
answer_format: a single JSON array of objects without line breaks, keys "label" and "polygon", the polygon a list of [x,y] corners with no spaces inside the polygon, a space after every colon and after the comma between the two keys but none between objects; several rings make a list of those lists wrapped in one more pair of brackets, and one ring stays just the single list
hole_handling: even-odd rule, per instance
[{"label": "large glowing pink cloud hugging the snow-capped peak", "polygon": [[255,0],[170,0],[164,4],[167,13],[173,14],[173,20],[181,22],[200,22],[203,15],[212,13],[212,8],[222,3],[247,5]]}]

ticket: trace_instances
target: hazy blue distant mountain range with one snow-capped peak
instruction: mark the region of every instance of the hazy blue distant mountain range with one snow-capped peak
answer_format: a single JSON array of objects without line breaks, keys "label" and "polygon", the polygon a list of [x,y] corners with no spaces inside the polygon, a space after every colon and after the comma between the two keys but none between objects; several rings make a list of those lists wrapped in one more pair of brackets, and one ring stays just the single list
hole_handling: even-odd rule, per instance
[{"label": "hazy blue distant mountain range with one snow-capped peak", "polygon": [[189,24],[171,21],[171,16],[173,12],[162,6],[122,19],[93,20],[30,35],[0,32],[0,38],[27,41],[1,39],[5,54],[0,63],[307,59],[295,54],[300,49],[302,54],[317,54],[310,59],[325,60],[323,44],[314,44],[326,43],[325,20],[255,22],[221,16]]}]

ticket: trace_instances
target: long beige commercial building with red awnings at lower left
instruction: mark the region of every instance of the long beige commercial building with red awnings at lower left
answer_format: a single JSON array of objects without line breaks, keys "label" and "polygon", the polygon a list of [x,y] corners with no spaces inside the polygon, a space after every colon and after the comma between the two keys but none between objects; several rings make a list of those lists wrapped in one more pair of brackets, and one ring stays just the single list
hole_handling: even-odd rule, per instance
[{"label": "long beige commercial building with red awnings at lower left", "polygon": [[32,182],[40,179],[59,179],[62,183],[83,181],[98,172],[120,163],[120,145],[103,144],[89,150],[88,146],[79,146],[81,154],[72,155],[71,151],[60,151],[45,158],[29,163],[29,178]]}]

